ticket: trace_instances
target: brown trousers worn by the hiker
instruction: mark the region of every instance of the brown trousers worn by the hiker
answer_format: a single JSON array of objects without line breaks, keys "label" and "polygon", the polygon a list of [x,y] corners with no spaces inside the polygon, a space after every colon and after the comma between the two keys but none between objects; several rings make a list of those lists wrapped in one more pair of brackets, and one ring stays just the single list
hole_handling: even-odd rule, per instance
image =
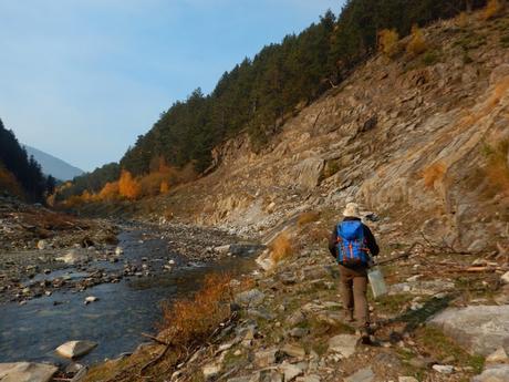
[{"label": "brown trousers worn by the hiker", "polygon": [[370,324],[367,306],[367,269],[347,268],[340,265],[341,297],[346,314],[353,317],[360,328]]}]

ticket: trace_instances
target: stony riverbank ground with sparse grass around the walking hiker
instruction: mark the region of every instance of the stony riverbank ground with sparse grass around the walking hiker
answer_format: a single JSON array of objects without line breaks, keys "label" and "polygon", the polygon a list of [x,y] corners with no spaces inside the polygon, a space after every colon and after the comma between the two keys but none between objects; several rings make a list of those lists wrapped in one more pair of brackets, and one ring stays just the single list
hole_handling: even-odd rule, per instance
[{"label": "stony riverbank ground with sparse grass around the walking hiker", "polygon": [[[270,252],[259,258],[263,268],[236,291],[235,319],[190,347],[184,361],[175,363],[168,339],[157,337],[162,343],[96,365],[85,381],[459,382],[507,368],[503,259],[414,246],[407,259],[382,267],[388,295],[375,300],[370,292],[373,344],[362,345],[343,319],[337,269],[326,249],[332,219],[314,214],[287,226],[291,250],[277,264]],[[382,224],[370,225],[382,259],[411,248],[396,231],[380,235]]]}]

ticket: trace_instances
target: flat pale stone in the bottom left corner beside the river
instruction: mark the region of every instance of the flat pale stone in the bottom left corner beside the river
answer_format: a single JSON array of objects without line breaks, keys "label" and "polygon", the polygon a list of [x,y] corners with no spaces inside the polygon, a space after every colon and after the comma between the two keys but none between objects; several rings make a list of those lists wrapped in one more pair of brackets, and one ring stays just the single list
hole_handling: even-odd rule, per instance
[{"label": "flat pale stone in the bottom left corner beside the river", "polygon": [[0,363],[1,382],[49,382],[59,369],[33,362]]}]

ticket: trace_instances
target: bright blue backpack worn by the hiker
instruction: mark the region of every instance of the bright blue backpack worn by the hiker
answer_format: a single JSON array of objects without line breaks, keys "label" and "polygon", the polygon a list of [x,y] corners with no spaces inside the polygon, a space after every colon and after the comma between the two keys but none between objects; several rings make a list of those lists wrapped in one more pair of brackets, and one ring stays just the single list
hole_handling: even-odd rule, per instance
[{"label": "bright blue backpack worn by the hiker", "polygon": [[337,224],[336,247],[337,262],[341,265],[367,265],[370,261],[361,220],[345,220]]}]

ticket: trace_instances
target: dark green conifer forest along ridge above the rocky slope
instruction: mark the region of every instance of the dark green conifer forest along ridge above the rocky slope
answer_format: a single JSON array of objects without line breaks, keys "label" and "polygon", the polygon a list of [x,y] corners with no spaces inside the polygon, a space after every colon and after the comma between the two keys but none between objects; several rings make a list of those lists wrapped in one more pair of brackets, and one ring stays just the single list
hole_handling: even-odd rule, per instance
[{"label": "dark green conifer forest along ridge above the rocky slope", "polygon": [[339,18],[328,11],[298,35],[287,35],[225,72],[211,94],[198,89],[186,101],[176,102],[138,137],[121,166],[134,175],[147,174],[152,161],[164,157],[170,165],[193,163],[202,172],[210,165],[211,149],[241,131],[249,133],[252,147],[259,149],[289,116],[336,86],[376,51],[381,30],[406,35],[414,24],[425,25],[485,3],[350,0]]}]

